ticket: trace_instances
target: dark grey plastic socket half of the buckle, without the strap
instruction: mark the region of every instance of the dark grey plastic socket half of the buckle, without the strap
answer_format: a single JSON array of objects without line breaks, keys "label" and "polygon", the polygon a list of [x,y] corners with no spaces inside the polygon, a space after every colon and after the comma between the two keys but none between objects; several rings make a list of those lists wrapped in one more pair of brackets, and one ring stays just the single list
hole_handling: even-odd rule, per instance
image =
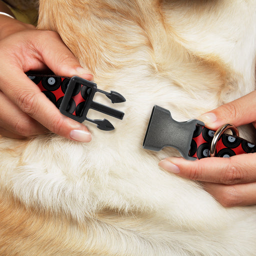
[{"label": "dark grey plastic socket half of the buckle, without the strap", "polygon": [[188,160],[195,157],[188,155],[195,125],[203,122],[192,119],[178,122],[172,119],[170,111],[154,105],[145,133],[143,148],[159,151],[165,146],[176,148]]}]

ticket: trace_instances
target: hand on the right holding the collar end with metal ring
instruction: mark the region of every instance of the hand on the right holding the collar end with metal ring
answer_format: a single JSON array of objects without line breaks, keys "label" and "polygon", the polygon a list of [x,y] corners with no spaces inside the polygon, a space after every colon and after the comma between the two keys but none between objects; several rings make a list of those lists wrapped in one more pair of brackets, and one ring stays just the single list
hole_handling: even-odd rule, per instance
[{"label": "hand on the right holding the collar end with metal ring", "polygon": [[[252,123],[256,128],[256,91],[224,104],[200,117],[210,129],[225,123],[235,126]],[[256,153],[245,153],[230,158],[206,157],[185,160],[168,157],[159,166],[179,176],[200,180],[203,187],[223,206],[256,204]]]}]

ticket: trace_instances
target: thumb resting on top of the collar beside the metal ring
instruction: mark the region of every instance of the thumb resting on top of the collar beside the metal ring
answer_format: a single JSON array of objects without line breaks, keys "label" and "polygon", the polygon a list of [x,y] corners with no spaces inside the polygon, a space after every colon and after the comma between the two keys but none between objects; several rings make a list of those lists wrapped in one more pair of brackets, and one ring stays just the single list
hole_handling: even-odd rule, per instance
[{"label": "thumb resting on top of the collar beside the metal ring", "polygon": [[204,122],[210,129],[217,129],[225,123],[235,126],[254,122],[256,120],[256,91],[252,91],[238,99],[223,104],[197,119]]}]

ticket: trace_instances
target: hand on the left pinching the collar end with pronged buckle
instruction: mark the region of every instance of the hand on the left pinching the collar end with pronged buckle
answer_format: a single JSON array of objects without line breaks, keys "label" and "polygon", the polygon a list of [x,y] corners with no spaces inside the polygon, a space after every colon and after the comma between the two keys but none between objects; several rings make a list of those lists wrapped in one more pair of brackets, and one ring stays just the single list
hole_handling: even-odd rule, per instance
[{"label": "hand on the left pinching the collar end with pronged buckle", "polygon": [[86,126],[62,115],[24,73],[48,67],[60,76],[93,78],[57,33],[0,15],[0,52],[1,135],[23,138],[50,130],[69,139],[91,140]]}]

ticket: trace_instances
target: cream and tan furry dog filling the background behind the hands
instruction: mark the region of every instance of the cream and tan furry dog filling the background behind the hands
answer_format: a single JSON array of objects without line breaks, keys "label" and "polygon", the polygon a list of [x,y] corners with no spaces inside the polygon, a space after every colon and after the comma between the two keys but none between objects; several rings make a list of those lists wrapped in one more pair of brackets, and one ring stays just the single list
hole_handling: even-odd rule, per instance
[{"label": "cream and tan furry dog filling the background behind the hands", "polygon": [[125,115],[109,117],[112,131],[85,121],[89,143],[0,138],[0,255],[255,255],[255,206],[221,206],[158,167],[176,149],[142,143],[155,104],[185,121],[255,88],[256,2],[39,3],[38,29],[58,32],[98,88],[121,93]]}]

